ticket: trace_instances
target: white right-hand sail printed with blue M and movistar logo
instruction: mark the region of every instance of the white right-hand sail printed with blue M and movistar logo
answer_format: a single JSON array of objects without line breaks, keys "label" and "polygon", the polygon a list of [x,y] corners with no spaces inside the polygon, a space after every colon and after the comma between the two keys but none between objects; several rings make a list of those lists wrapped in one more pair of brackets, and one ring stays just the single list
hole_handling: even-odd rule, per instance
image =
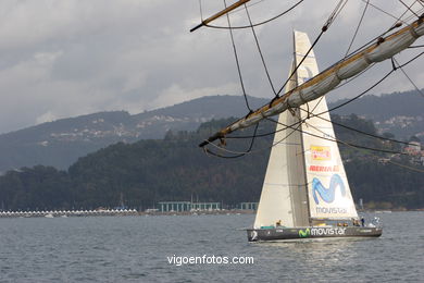
[{"label": "white right-hand sail printed with blue M and movistar logo", "polygon": [[[311,47],[308,35],[295,32],[296,62],[300,62]],[[298,84],[303,84],[319,73],[313,51],[298,70]],[[325,97],[301,107],[302,118],[311,116],[302,124],[303,155],[308,183],[311,219],[358,218],[350,193],[340,151],[335,140],[333,124]]]}]

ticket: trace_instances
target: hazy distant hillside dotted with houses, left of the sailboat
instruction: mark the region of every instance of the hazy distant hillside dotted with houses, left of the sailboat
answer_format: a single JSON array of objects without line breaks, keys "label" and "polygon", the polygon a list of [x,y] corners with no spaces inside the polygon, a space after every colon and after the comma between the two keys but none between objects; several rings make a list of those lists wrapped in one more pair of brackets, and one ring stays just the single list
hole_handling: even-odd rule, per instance
[{"label": "hazy distant hillside dotted with houses, left of the sailboat", "polygon": [[[259,107],[266,100],[250,98],[249,102]],[[169,130],[191,131],[211,119],[246,113],[242,97],[211,96],[135,115],[100,112],[43,123],[0,135],[0,172],[36,164],[66,169],[111,144],[163,138]]]}]

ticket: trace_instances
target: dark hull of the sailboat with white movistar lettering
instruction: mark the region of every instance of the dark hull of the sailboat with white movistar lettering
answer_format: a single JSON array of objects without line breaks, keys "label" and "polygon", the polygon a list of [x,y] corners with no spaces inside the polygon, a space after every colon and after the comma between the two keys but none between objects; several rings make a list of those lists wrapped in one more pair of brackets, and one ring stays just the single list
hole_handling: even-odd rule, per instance
[{"label": "dark hull of the sailboat with white movistar lettering", "polygon": [[382,233],[382,227],[366,226],[314,226],[247,230],[249,242],[326,237],[379,237]]}]

